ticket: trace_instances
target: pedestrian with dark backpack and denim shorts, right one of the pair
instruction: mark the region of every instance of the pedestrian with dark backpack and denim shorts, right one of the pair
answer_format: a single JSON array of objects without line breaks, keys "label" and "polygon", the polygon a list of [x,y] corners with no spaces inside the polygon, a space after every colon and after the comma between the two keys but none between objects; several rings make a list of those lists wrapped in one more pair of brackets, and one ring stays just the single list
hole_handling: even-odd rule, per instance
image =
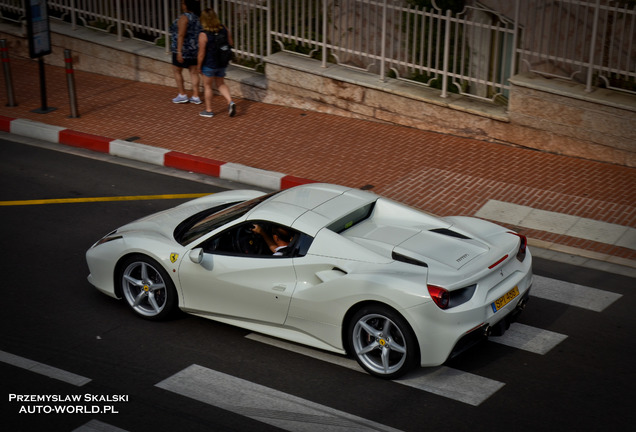
[{"label": "pedestrian with dark backpack and denim shorts, right one of the pair", "polygon": [[213,9],[207,8],[201,13],[203,31],[199,33],[198,69],[203,75],[203,89],[205,95],[205,111],[199,113],[202,117],[213,117],[212,112],[212,84],[216,84],[219,93],[228,103],[230,117],[236,114],[236,104],[232,101],[230,89],[225,84],[225,70],[232,56],[232,35],[221,24]]}]

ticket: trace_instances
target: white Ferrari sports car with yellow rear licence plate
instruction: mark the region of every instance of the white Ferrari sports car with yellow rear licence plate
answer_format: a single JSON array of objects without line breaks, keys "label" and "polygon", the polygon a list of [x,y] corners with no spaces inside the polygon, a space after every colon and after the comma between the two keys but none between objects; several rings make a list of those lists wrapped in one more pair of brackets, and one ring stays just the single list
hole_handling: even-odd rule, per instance
[{"label": "white Ferrari sports car with yellow rear licence plate", "polygon": [[179,308],[352,354],[382,378],[502,333],[532,284],[522,235],[329,184],[195,199],[111,232],[86,259],[88,280],[144,318]]}]

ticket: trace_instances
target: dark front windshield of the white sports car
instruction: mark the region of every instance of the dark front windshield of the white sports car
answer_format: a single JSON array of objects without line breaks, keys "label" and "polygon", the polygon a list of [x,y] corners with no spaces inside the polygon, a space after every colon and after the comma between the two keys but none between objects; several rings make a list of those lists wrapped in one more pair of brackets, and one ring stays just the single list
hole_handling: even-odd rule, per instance
[{"label": "dark front windshield of the white sports car", "polygon": [[243,216],[251,209],[277,193],[278,192],[273,192],[249,201],[224,204],[222,206],[212,207],[199,212],[177,226],[174,231],[175,240],[182,246],[185,246],[210,231]]}]

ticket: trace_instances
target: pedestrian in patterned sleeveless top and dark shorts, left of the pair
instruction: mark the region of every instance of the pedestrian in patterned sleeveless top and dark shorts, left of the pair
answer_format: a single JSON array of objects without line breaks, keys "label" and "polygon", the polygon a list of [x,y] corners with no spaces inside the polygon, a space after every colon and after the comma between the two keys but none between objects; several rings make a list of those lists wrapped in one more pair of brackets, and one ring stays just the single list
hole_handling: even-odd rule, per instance
[{"label": "pedestrian in patterned sleeveless top and dark shorts, left of the pair", "polygon": [[[200,104],[199,73],[197,71],[197,54],[199,52],[199,33],[201,32],[201,5],[199,0],[182,0],[181,15],[170,26],[170,48],[172,51],[172,70],[177,82],[178,95],[172,99],[174,103]],[[190,71],[192,81],[192,97],[186,94],[183,70]]]}]

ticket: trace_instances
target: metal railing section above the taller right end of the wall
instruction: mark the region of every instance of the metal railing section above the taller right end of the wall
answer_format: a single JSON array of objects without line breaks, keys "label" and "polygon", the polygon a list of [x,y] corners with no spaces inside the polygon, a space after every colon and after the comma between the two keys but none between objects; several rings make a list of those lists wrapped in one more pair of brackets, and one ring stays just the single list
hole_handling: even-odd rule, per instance
[{"label": "metal railing section above the taller right end of the wall", "polygon": [[602,82],[636,94],[633,1],[535,1],[525,6],[519,55],[527,70],[582,82],[587,91]]}]

